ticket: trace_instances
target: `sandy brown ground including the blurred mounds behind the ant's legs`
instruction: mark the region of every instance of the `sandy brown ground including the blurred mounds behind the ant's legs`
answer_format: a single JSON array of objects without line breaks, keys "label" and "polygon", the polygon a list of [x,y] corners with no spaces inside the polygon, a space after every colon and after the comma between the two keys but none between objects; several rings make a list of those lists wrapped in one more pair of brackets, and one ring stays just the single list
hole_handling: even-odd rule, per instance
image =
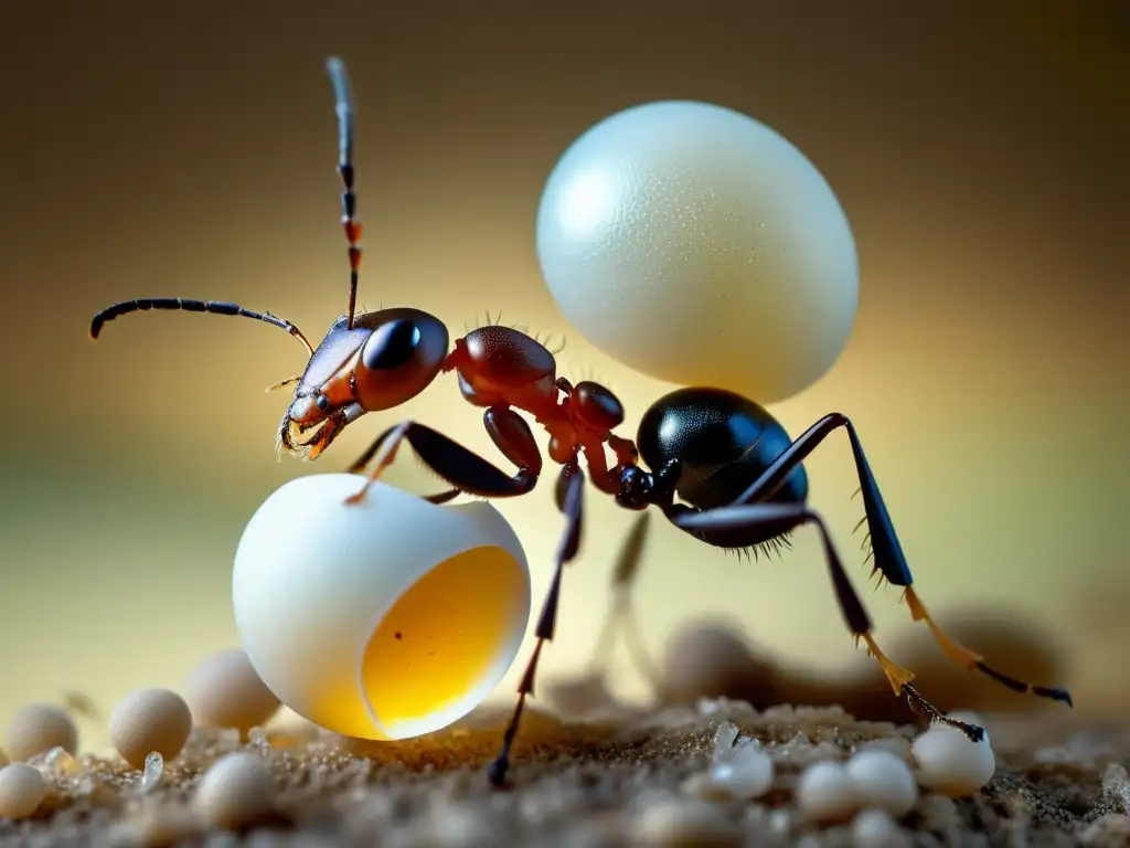
[{"label": "sandy brown ground including the blurred mounds behind the ant's legs", "polygon": [[[1029,680],[1064,680],[1067,663],[1046,634],[985,621],[954,622],[951,631]],[[956,669],[920,637],[898,651],[938,707],[980,712],[998,760],[972,798],[923,795],[901,821],[905,845],[1130,846],[1125,687],[1107,676],[1105,708],[1071,710]],[[592,680],[540,686],[504,790],[489,786],[485,767],[506,708],[402,743],[362,743],[305,724],[247,739],[198,729],[148,789],[120,761],[49,755],[35,764],[52,794],[33,820],[0,820],[0,846],[853,846],[850,822],[816,827],[799,813],[800,770],[870,745],[910,761],[922,729],[860,655],[858,667],[828,678],[774,664],[716,624],[689,625],[652,669],[659,706],[624,707]],[[1096,691],[1086,698],[1092,707],[1101,706]],[[774,706],[788,703],[812,706]],[[703,799],[693,789],[728,732],[756,737],[775,760],[774,786],[756,802]],[[191,812],[193,789],[235,750],[266,758],[277,812],[241,832],[209,831]]]}]

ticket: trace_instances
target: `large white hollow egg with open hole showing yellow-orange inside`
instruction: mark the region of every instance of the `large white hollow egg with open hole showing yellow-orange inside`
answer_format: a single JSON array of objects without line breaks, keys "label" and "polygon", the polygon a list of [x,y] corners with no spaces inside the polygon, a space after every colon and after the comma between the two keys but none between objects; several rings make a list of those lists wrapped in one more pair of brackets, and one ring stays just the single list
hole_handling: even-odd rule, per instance
[{"label": "large white hollow egg with open hole showing yellow-orange inside", "polygon": [[255,672],[321,727],[402,739],[446,727],[498,685],[530,617],[530,572],[492,505],[437,507],[365,478],[299,477],[244,529],[235,623]]}]

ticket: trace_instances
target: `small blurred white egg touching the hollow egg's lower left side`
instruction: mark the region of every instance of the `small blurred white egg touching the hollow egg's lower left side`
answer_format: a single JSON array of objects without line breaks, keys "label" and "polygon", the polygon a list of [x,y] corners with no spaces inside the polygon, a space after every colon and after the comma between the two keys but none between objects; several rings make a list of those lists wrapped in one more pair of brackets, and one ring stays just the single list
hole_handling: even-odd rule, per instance
[{"label": "small blurred white egg touching the hollow egg's lower left side", "polygon": [[280,706],[241,648],[218,651],[193,668],[184,683],[184,700],[198,726],[242,733],[266,725]]}]

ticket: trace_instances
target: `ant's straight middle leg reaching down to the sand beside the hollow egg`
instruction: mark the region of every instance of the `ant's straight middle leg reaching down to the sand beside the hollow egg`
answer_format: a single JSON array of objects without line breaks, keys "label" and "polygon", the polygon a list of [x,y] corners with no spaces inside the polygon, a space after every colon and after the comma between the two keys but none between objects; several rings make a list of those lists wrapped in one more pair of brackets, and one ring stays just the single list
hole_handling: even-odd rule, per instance
[{"label": "ant's straight middle leg reaching down to the sand beside the hollow egg", "polygon": [[562,467],[558,492],[564,487],[564,494],[559,499],[558,507],[565,516],[565,533],[562,534],[560,544],[557,546],[556,568],[554,579],[546,594],[546,600],[541,606],[541,614],[538,616],[538,629],[536,631],[537,642],[533,646],[533,654],[522,674],[522,682],[518,686],[518,703],[510,724],[506,725],[506,733],[503,735],[502,750],[498,756],[487,768],[487,776],[494,786],[502,786],[506,780],[506,771],[510,769],[510,750],[518,736],[518,727],[522,720],[522,710],[525,708],[525,699],[533,696],[533,683],[538,674],[538,660],[541,658],[541,648],[546,642],[554,640],[554,631],[557,625],[557,605],[562,592],[562,572],[565,564],[576,556],[581,546],[581,519],[583,511],[584,495],[584,471],[576,460]]}]

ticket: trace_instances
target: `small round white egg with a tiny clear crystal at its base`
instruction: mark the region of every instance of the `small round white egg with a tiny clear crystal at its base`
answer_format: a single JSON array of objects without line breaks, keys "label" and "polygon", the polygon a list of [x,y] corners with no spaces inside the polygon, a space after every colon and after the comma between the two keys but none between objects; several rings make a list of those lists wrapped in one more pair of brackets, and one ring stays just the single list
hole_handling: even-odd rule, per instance
[{"label": "small round white egg with a tiny clear crystal at its base", "polygon": [[145,769],[149,754],[175,760],[192,733],[189,704],[167,689],[132,692],[110,716],[110,741],[134,769]]}]

